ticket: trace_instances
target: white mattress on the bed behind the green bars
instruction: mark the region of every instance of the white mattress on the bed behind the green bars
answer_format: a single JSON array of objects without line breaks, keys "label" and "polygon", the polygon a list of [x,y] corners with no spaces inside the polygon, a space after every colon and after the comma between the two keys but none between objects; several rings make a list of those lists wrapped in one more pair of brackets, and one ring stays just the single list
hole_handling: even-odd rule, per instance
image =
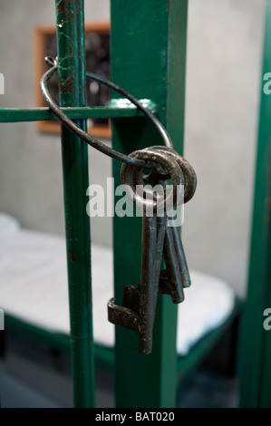
[{"label": "white mattress on the bed behind the green bars", "polygon": [[[5,230],[8,228],[4,220]],[[2,221],[1,221],[2,220]],[[69,303],[65,241],[20,229],[14,222],[1,233],[0,307],[45,330],[68,334]],[[200,337],[222,324],[234,305],[234,292],[215,276],[190,271],[192,285],[178,306],[177,352],[184,355]],[[98,344],[113,346],[114,325],[107,320],[113,293],[112,251],[92,244],[93,336]]]}]

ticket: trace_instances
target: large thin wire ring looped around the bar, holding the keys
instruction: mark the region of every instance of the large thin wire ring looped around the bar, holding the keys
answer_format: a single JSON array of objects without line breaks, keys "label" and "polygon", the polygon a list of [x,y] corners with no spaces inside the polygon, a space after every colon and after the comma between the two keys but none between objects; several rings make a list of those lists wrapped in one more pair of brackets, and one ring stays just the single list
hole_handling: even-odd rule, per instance
[{"label": "large thin wire ring looped around the bar, holding the keys", "polygon": [[[50,92],[48,90],[47,82],[50,80],[50,78],[53,76],[53,73],[58,69],[58,59],[57,57],[54,59],[51,56],[46,56],[45,62],[48,63],[48,65],[51,65],[51,68],[44,73],[44,75],[41,78],[40,81],[40,88],[42,95],[44,97],[44,101],[49,106],[50,110],[53,111],[54,115],[62,121],[62,123],[70,129],[70,131],[73,131],[77,136],[79,136],[82,140],[84,140],[88,145],[91,145],[92,148],[95,148],[96,150],[100,150],[103,154],[106,154],[110,156],[112,159],[119,160],[122,163],[136,166],[136,167],[147,167],[147,168],[155,168],[157,167],[157,164],[154,164],[153,162],[145,162],[143,160],[135,160],[131,157],[122,154],[119,151],[113,150],[112,148],[106,146],[104,143],[102,143],[101,140],[95,139],[87,133],[86,131],[83,131],[78,127],[62,110],[61,108],[53,102],[53,99],[50,95]],[[111,89],[113,89],[116,92],[121,93],[125,98],[129,99],[134,105],[137,106],[137,108],[142,111],[149,119],[152,121],[152,123],[157,127],[157,129],[160,131],[160,135],[163,138],[166,147],[173,149],[172,141],[170,140],[169,133],[166,131],[164,126],[161,124],[161,122],[158,120],[158,118],[147,108],[145,108],[136,98],[134,98],[129,92],[124,91],[120,86],[117,84],[110,82],[109,80],[105,80],[102,77],[92,74],[92,73],[86,73],[87,78],[91,78],[92,80],[95,80],[97,82],[102,82],[102,84],[107,85]]]}]

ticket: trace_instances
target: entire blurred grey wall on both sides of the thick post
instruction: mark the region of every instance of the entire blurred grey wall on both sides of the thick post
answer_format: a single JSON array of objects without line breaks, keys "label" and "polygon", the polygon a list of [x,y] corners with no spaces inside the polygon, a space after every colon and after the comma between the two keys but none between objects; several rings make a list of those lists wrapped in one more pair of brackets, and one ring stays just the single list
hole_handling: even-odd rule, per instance
[{"label": "entire blurred grey wall on both sides of the thick post", "polygon": [[[264,0],[189,0],[185,155],[198,189],[185,209],[189,266],[244,295],[261,81]],[[54,23],[54,2],[0,0],[0,107],[34,106],[33,27]],[[107,20],[109,0],[87,0],[85,18]],[[109,143],[109,142],[107,142]],[[92,183],[111,160],[90,150]],[[34,123],[0,124],[0,210],[26,228],[63,234],[60,140]],[[111,245],[111,219],[92,219],[92,240]]]}]

